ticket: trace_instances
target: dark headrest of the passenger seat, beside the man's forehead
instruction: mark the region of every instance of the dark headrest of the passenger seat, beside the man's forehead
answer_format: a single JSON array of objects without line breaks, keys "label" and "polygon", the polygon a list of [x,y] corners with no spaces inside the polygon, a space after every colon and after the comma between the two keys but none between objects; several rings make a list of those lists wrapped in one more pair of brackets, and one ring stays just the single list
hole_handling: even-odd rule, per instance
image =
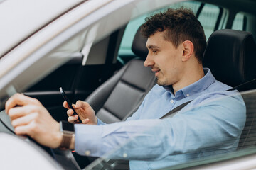
[{"label": "dark headrest of the passenger seat, beside the man's forehead", "polygon": [[140,29],[138,29],[132,42],[132,52],[134,52],[134,55],[141,57],[142,60],[146,60],[146,56],[149,52],[146,48],[146,40],[147,38],[144,38],[142,33],[140,33]]}]

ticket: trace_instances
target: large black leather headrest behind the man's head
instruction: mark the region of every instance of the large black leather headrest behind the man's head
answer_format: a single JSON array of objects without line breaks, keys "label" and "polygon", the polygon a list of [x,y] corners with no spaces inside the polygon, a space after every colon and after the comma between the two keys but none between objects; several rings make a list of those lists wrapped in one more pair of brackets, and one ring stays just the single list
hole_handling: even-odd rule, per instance
[{"label": "large black leather headrest behind the man's head", "polygon": [[255,78],[256,45],[251,33],[240,30],[216,30],[208,39],[203,67],[210,68],[215,79],[238,86]]}]

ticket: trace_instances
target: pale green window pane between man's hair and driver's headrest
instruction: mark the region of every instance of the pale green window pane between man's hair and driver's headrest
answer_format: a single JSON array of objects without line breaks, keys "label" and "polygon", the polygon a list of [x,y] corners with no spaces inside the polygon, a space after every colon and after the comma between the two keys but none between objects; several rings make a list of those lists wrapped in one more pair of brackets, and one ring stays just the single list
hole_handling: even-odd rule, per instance
[{"label": "pale green window pane between man's hair and driver's headrest", "polygon": [[211,33],[213,33],[219,13],[220,8],[218,8],[218,6],[213,6],[210,4],[205,4],[203,6],[203,9],[198,16],[198,20],[203,26],[206,34],[206,39],[208,39]]}]

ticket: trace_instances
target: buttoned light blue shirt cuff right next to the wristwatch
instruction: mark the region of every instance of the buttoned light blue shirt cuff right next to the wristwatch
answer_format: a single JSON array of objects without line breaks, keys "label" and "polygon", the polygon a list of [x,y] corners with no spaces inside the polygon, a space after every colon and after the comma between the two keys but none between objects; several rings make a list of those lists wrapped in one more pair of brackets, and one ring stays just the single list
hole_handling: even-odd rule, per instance
[{"label": "buttoned light blue shirt cuff right next to the wristwatch", "polygon": [[100,157],[102,126],[75,124],[75,151],[78,154]]}]

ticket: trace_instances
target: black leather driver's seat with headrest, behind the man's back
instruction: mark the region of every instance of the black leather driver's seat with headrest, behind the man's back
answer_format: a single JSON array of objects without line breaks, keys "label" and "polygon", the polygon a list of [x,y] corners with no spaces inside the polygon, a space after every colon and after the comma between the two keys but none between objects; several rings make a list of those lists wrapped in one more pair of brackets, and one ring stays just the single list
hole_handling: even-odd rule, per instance
[{"label": "black leather driver's seat with headrest, behind the man's back", "polygon": [[[217,30],[206,47],[203,66],[219,81],[238,86],[239,91],[256,89],[256,45],[251,33],[239,30]],[[251,81],[252,80],[252,81]],[[245,82],[250,83],[245,84]],[[241,86],[239,86],[242,84]],[[241,93],[246,105],[246,123],[238,149],[256,145],[256,91]]]}]

